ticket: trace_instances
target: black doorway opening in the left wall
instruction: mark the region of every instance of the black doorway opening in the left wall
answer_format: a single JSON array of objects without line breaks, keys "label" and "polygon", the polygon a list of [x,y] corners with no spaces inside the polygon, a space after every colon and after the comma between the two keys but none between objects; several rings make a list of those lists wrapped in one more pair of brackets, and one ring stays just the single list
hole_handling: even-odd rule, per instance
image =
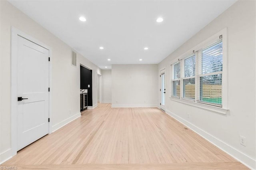
[{"label": "black doorway opening in the left wall", "polygon": [[80,89],[88,90],[88,106],[92,106],[92,70],[82,65],[80,65]]}]

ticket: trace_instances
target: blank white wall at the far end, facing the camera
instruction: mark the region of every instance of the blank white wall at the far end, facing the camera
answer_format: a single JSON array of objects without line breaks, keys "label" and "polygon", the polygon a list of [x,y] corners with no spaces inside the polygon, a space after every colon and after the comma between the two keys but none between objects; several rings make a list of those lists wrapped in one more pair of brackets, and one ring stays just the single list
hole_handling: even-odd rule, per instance
[{"label": "blank white wall at the far end, facing the camera", "polygon": [[112,65],[112,107],[156,107],[158,65]]}]

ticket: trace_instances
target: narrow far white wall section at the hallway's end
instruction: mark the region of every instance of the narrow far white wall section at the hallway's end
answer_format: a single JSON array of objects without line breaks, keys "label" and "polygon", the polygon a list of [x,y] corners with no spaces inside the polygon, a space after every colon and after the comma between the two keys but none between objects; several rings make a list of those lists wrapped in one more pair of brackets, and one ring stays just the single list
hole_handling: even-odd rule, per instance
[{"label": "narrow far white wall section at the hallway's end", "polygon": [[102,103],[112,102],[111,70],[102,70]]}]

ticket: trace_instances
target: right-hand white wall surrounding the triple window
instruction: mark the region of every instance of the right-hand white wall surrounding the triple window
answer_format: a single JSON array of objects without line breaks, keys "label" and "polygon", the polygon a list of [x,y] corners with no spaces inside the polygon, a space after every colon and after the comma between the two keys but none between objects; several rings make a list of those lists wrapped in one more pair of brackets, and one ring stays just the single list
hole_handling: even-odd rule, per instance
[{"label": "right-hand white wall surrounding the triple window", "polygon": [[[166,67],[166,94],[170,94],[171,60],[227,27],[228,114],[178,103],[169,95],[166,112],[251,168],[256,168],[255,9],[256,1],[236,2],[158,65],[158,71]],[[240,135],[246,137],[246,147],[240,144]]]}]

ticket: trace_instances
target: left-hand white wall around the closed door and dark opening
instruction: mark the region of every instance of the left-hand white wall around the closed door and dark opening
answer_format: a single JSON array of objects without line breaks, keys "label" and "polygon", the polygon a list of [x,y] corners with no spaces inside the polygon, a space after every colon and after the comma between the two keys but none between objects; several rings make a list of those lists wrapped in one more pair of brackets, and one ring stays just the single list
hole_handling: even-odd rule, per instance
[{"label": "left-hand white wall around the closed door and dark opening", "polygon": [[71,66],[71,48],[7,1],[0,1],[0,162],[10,157],[10,28],[52,48],[52,130],[80,115],[80,63],[92,69],[93,105],[97,105],[96,74],[101,69],[77,53]]}]

